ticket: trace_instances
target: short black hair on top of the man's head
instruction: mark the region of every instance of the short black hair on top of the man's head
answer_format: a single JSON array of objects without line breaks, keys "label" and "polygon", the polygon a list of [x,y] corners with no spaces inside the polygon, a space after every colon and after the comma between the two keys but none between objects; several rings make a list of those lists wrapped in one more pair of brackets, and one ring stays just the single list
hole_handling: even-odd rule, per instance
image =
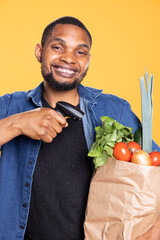
[{"label": "short black hair on top of the man's head", "polygon": [[43,46],[44,46],[44,44],[45,44],[45,42],[48,38],[48,35],[52,34],[52,30],[57,24],[72,24],[72,25],[75,25],[75,26],[78,26],[78,27],[82,28],[83,30],[85,30],[85,32],[87,33],[87,35],[89,37],[90,46],[92,45],[91,34],[89,33],[88,29],[84,26],[84,24],[80,20],[78,20],[77,18],[70,17],[70,16],[65,16],[65,17],[58,18],[55,21],[51,22],[44,29],[42,39],[41,39],[42,48],[43,48]]}]

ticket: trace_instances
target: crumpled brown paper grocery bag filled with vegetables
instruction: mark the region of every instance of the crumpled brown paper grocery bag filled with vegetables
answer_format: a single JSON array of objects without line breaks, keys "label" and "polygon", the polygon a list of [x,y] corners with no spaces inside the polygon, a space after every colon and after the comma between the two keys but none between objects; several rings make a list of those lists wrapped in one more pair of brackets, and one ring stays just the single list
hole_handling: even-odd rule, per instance
[{"label": "crumpled brown paper grocery bag filled with vegetables", "polygon": [[135,240],[160,214],[160,167],[109,158],[89,191],[85,240]]}]

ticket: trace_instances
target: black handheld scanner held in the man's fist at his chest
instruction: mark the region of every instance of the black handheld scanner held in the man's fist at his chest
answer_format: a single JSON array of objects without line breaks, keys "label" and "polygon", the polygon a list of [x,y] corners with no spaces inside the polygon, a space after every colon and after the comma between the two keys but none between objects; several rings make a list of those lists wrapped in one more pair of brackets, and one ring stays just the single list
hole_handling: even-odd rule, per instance
[{"label": "black handheld scanner held in the man's fist at his chest", "polygon": [[64,117],[71,117],[74,120],[81,120],[84,112],[81,111],[79,108],[73,106],[68,102],[57,102],[56,107],[54,109],[56,112],[60,113]]}]

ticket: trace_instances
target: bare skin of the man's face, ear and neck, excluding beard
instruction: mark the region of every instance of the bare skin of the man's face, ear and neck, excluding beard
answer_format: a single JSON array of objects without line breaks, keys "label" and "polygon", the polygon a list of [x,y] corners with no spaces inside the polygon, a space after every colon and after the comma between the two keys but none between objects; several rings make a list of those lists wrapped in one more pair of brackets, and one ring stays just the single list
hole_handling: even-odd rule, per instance
[{"label": "bare skin of the man's face, ear and neck, excluding beard", "polygon": [[[45,46],[36,45],[35,55],[41,62],[45,74],[52,73],[61,83],[80,82],[89,66],[90,41],[86,32],[74,25],[58,24],[48,37]],[[44,96],[55,106],[58,100],[66,100],[74,105],[79,103],[77,88],[70,91],[57,91],[44,82]]]}]

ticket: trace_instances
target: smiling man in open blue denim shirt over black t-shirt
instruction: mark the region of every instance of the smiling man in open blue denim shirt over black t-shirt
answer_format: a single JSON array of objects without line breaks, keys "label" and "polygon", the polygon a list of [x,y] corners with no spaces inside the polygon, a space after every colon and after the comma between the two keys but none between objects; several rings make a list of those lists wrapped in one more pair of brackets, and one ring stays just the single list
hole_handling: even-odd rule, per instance
[{"label": "smiling man in open blue denim shirt over black t-shirt", "polygon": [[[94,129],[103,115],[140,127],[125,100],[80,84],[91,44],[78,19],[52,22],[35,48],[44,81],[0,98],[0,239],[84,239]],[[78,106],[82,121],[57,113],[58,101]]]}]

